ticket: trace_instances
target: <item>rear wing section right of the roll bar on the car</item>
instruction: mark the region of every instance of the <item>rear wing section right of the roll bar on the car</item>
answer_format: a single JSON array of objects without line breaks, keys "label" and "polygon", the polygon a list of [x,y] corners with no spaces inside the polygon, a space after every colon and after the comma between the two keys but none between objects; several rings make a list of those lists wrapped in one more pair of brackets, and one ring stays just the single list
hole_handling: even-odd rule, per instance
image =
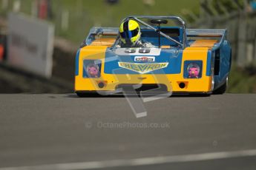
[{"label": "rear wing section right of the roll bar on the car", "polygon": [[220,47],[223,41],[226,40],[227,30],[214,29],[186,29],[187,38],[202,38],[217,40],[214,48]]}]

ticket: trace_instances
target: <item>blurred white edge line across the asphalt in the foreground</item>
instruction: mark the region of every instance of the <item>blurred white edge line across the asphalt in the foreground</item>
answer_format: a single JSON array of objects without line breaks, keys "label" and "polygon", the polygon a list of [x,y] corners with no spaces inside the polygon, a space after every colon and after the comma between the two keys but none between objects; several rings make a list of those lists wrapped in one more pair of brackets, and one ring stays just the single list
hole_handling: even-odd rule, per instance
[{"label": "blurred white edge line across the asphalt in the foreground", "polygon": [[234,152],[212,152],[203,154],[186,154],[166,157],[144,157],[131,160],[104,160],[81,163],[56,163],[42,166],[7,167],[0,170],[79,170],[79,169],[104,169],[121,166],[149,166],[163,163],[185,163],[203,160],[218,160],[235,157],[256,156],[256,149]]}]

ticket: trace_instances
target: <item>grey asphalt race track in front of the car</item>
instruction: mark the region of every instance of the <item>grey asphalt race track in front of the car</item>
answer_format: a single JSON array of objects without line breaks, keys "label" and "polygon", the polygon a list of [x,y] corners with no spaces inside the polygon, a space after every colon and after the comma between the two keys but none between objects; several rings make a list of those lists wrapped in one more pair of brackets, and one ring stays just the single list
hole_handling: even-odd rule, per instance
[{"label": "grey asphalt race track in front of the car", "polygon": [[0,95],[0,170],[256,169],[256,95],[144,105],[136,118],[120,96]]}]

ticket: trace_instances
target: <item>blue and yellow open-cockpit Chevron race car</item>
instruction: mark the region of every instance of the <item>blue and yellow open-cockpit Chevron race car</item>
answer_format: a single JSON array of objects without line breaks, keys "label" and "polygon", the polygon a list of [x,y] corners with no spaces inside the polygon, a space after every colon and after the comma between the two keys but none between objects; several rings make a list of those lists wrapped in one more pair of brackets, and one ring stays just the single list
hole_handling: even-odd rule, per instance
[{"label": "blue and yellow open-cockpit Chevron race car", "polygon": [[74,90],[223,94],[232,64],[227,30],[186,29],[177,16],[128,16],[152,47],[121,47],[118,27],[93,27],[76,54]]}]

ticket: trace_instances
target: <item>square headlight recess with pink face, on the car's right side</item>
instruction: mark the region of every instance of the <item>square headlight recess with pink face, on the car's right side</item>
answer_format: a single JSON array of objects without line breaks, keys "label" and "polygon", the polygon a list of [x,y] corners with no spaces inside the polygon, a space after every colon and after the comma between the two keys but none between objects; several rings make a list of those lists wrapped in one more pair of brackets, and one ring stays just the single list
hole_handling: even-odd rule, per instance
[{"label": "square headlight recess with pink face, on the car's right side", "polygon": [[185,61],[184,78],[202,78],[203,61]]}]

